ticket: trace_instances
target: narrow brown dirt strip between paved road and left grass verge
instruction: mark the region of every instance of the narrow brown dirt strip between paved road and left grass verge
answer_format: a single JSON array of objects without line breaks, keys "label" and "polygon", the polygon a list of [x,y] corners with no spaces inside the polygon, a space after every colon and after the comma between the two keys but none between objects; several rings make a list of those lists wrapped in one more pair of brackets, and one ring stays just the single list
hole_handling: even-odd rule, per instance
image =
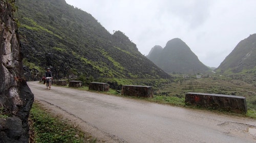
[{"label": "narrow brown dirt strip between paved road and left grass verge", "polygon": [[91,136],[92,139],[97,138],[96,142],[126,142],[124,140],[117,138],[114,135],[110,135],[108,133],[100,131],[96,127],[93,127],[90,124],[88,124],[86,121],[83,121],[82,119],[72,115],[72,113],[63,110],[58,106],[37,99],[35,99],[34,102],[38,103],[42,108],[46,109],[54,117],[57,117],[60,120],[67,120],[68,123],[70,123],[74,127],[81,129],[86,133],[86,136]]}]

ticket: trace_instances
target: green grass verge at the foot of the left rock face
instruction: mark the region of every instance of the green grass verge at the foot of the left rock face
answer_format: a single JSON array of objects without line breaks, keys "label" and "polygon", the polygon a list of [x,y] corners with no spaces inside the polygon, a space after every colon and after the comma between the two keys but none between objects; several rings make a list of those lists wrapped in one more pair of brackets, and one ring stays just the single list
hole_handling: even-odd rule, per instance
[{"label": "green grass verge at the foot of the left rock face", "polygon": [[97,139],[80,130],[68,120],[55,117],[37,102],[33,103],[30,120],[34,131],[35,142],[96,142]]}]

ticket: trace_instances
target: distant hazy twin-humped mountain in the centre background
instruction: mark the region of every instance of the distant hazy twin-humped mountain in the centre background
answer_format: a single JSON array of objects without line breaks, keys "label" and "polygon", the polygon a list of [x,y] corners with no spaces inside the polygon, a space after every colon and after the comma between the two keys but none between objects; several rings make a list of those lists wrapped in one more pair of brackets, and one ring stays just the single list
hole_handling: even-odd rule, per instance
[{"label": "distant hazy twin-humped mountain in the centre background", "polygon": [[153,47],[147,58],[167,73],[204,73],[210,70],[179,38],[169,40],[164,48]]}]

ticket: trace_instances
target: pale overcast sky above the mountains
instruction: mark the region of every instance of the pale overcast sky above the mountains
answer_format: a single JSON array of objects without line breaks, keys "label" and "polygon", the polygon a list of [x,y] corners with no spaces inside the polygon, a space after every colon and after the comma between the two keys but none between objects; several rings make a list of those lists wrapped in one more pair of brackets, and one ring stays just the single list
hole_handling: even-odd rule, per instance
[{"label": "pale overcast sky above the mountains", "polygon": [[209,67],[218,67],[241,40],[256,33],[256,0],[66,2],[90,13],[111,34],[123,32],[144,55],[180,38]]}]

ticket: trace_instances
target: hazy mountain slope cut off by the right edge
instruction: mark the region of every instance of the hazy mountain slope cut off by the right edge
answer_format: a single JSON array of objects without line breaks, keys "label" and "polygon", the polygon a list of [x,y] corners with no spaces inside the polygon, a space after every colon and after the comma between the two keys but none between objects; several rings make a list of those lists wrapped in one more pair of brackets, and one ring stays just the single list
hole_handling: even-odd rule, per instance
[{"label": "hazy mountain slope cut off by the right edge", "polygon": [[240,41],[215,70],[219,73],[256,72],[256,34]]}]

